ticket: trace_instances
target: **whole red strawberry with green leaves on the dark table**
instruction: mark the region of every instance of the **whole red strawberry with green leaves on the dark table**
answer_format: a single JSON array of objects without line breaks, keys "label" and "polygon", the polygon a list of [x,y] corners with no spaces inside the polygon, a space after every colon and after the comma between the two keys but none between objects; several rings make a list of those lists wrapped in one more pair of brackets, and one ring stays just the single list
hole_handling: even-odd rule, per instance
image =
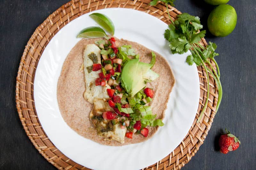
[{"label": "whole red strawberry with green leaves on the dark table", "polygon": [[229,151],[235,151],[241,142],[238,137],[232,135],[229,130],[226,129],[226,134],[220,136],[219,145],[221,153],[228,153]]}]

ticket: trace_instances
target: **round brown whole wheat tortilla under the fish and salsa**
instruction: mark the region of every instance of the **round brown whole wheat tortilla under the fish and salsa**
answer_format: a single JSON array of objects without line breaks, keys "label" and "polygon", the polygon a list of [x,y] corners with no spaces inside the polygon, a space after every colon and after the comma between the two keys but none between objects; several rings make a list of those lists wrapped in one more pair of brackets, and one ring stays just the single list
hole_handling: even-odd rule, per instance
[{"label": "round brown whole wheat tortilla under the fish and salsa", "polygon": [[[93,44],[100,39],[82,39],[69,52],[61,70],[57,86],[57,99],[59,103],[60,113],[65,122],[79,135],[91,139],[97,143],[111,146],[122,146],[127,144],[140,143],[151,138],[157,130],[157,127],[149,127],[148,137],[134,134],[132,139],[125,137],[124,144],[116,141],[106,141],[103,137],[97,135],[92,122],[89,119],[89,114],[93,105],[86,101],[83,97],[85,91],[84,71],[79,71],[83,63],[84,48],[87,44]],[[140,61],[150,63],[152,55],[150,49],[132,41],[118,40],[116,44],[132,45],[140,55]],[[156,52],[155,52],[156,53]],[[158,119],[164,118],[169,94],[174,85],[175,79],[168,62],[156,53],[156,63],[152,68],[160,75],[155,81],[148,83],[147,87],[154,89],[154,98],[150,105],[153,114],[157,114]],[[160,127],[160,128],[164,128]]]}]

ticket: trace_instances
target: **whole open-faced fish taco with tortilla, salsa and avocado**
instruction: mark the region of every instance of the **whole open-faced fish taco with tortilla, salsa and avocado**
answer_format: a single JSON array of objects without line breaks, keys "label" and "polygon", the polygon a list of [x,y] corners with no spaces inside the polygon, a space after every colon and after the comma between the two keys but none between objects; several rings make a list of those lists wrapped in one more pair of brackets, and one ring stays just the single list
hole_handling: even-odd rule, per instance
[{"label": "whole open-faced fish taco with tortilla, salsa and avocado", "polygon": [[174,83],[164,57],[136,42],[82,39],[62,66],[57,99],[79,135],[122,146],[143,142],[164,125]]}]

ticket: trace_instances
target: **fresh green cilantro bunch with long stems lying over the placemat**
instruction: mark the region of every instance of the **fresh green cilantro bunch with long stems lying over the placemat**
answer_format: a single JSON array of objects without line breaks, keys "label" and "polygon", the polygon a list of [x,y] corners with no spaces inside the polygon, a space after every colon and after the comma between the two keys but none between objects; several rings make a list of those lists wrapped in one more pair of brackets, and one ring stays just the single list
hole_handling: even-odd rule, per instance
[{"label": "fresh green cilantro bunch with long stems lying over the placemat", "polygon": [[[170,0],[171,1],[171,0]],[[167,12],[169,15],[168,4],[171,4],[173,1],[163,2],[166,3]],[[156,1],[157,2],[157,1]],[[150,3],[151,5],[155,4],[155,0]],[[170,20],[172,18],[169,15]],[[197,122],[199,122],[204,114],[205,109],[208,105],[209,94],[210,94],[210,83],[209,83],[209,74],[214,78],[216,84],[218,85],[218,102],[216,106],[215,113],[217,113],[221,98],[222,98],[222,86],[220,82],[220,70],[217,62],[214,59],[214,56],[219,55],[215,53],[217,48],[215,43],[209,42],[209,45],[205,48],[199,41],[204,38],[206,31],[203,30],[200,32],[203,26],[200,23],[200,18],[191,16],[188,13],[182,13],[177,15],[177,19],[169,25],[169,28],[164,32],[164,38],[169,41],[169,47],[173,54],[183,54],[188,50],[191,52],[191,55],[188,55],[186,62],[189,65],[195,63],[197,66],[203,66],[206,71],[207,77],[207,96],[203,109],[199,115]],[[212,66],[211,61],[216,65],[217,72]],[[211,70],[206,66],[209,65]]]}]

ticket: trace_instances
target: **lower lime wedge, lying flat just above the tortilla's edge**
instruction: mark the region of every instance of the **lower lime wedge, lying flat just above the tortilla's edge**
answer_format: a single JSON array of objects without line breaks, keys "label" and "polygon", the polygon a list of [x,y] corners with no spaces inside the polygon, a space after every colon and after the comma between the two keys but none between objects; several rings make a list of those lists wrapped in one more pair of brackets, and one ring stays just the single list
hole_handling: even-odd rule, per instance
[{"label": "lower lime wedge, lying flat just above the tortilla's edge", "polygon": [[90,26],[87,28],[84,28],[76,38],[101,38],[101,37],[106,37],[107,34],[103,29],[101,29],[98,26]]}]

